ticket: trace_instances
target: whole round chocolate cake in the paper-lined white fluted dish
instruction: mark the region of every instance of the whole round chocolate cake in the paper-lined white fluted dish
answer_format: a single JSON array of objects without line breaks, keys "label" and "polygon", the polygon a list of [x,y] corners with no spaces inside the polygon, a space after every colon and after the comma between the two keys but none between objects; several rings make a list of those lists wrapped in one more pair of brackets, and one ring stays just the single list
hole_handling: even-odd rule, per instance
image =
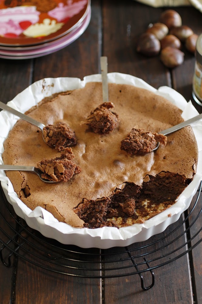
[{"label": "whole round chocolate cake in the paper-lined white fluted dish", "polygon": [[[131,85],[109,83],[109,101],[103,104],[102,84],[90,82],[44,99],[27,112],[45,126],[66,124],[76,142],[67,181],[46,184],[29,172],[6,172],[26,206],[41,206],[73,227],[119,228],[143,223],[175,203],[196,173],[197,142],[190,126],[168,135],[167,143],[159,133],[183,121],[181,110],[160,95]],[[146,134],[138,143],[149,138],[152,145],[162,144],[155,152],[133,153],[134,130]],[[44,174],[47,166],[57,167],[57,160],[59,169],[54,167],[51,174],[58,181],[64,172],[60,162],[70,149],[61,156],[43,141],[41,131],[22,120],[10,131],[4,148],[4,164],[38,163]]]}]

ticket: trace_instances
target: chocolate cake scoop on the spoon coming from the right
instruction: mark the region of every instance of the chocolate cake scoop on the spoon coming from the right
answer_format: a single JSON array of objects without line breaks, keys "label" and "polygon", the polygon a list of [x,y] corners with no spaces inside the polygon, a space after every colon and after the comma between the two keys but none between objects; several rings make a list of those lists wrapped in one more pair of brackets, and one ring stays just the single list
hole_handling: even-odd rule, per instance
[{"label": "chocolate cake scoop on the spoon coming from the right", "polygon": [[156,148],[158,142],[165,146],[167,137],[163,134],[133,128],[128,136],[121,141],[121,150],[125,150],[132,155],[136,153],[144,154]]}]

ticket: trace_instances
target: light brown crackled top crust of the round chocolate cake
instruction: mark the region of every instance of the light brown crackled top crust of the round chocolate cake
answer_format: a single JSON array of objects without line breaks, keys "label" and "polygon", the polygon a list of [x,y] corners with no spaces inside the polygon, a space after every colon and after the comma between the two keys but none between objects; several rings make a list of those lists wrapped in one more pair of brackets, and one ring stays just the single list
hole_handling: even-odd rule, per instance
[{"label": "light brown crackled top crust of the round chocolate cake", "polygon": [[[168,135],[167,145],[160,146],[156,152],[129,155],[120,149],[121,141],[134,126],[159,133],[182,122],[180,109],[153,92],[131,85],[109,84],[109,100],[120,120],[109,134],[94,133],[89,126],[80,125],[103,102],[102,84],[98,82],[63,92],[29,111],[29,116],[45,125],[66,123],[75,131],[74,162],[82,169],[66,183],[54,184],[45,184],[29,172],[7,171],[15,192],[30,209],[41,206],[59,221],[83,227],[84,221],[75,213],[83,199],[108,198],[119,185],[130,182],[141,186],[144,178],[151,180],[157,174],[171,172],[173,176],[183,177],[185,184],[192,180],[198,149],[190,126]],[[41,131],[22,120],[10,131],[4,148],[4,164],[36,166],[44,158],[60,156],[56,149],[46,145]]]}]

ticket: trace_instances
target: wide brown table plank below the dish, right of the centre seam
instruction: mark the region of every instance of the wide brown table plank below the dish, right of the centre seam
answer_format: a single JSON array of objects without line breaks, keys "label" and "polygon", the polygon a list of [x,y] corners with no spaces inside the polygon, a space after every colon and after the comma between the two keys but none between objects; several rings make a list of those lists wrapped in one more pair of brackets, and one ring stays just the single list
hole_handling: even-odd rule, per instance
[{"label": "wide brown table plank below the dish, right of the centre seam", "polygon": [[[166,263],[169,261],[169,259],[173,259],[174,257],[177,257],[179,254],[183,253],[186,248],[183,247],[182,249],[177,250],[174,254],[169,254],[165,258],[161,258],[164,254],[168,254],[173,250],[176,250],[181,245],[185,243],[184,237],[180,237],[179,240],[173,242],[170,245],[167,245],[171,241],[174,240],[174,238],[177,235],[180,235],[183,233],[184,229],[183,226],[181,226],[177,233],[173,233],[170,236],[166,237],[163,241],[161,241],[159,244],[152,245],[147,248],[139,249],[137,252],[135,251],[136,248],[145,246],[147,244],[151,244],[152,242],[155,242],[159,240],[161,237],[166,236],[170,232],[172,232],[180,223],[182,222],[182,216],[180,219],[174,223],[173,225],[170,225],[163,233],[160,233],[158,235],[155,235],[151,237],[149,240],[141,243],[135,243],[131,246],[128,246],[131,251],[131,255],[136,257],[137,255],[140,256],[143,254],[143,257],[146,257],[146,260],[152,260],[157,257],[159,259],[157,261],[150,262],[150,267],[154,267],[155,265]],[[157,250],[161,246],[165,246],[164,249],[161,249],[157,252],[154,252],[153,254],[149,254],[152,250]],[[106,250],[107,251],[107,250]],[[110,253],[111,250],[108,250],[107,252]],[[127,255],[125,255],[126,258]],[[123,254],[116,255],[115,256],[117,260],[123,259]],[[135,258],[135,263],[142,263],[144,262],[143,257]],[[108,259],[108,257],[107,257]],[[123,262],[125,265],[130,265],[129,262]],[[111,267],[117,267],[118,263],[111,264]],[[120,264],[121,266],[123,264]],[[132,262],[131,262],[132,265]],[[146,265],[144,266],[138,266],[139,270],[146,269]],[[123,270],[126,272],[126,270]],[[129,272],[132,270],[129,269]],[[154,286],[147,290],[143,291],[141,288],[141,281],[140,277],[137,274],[134,274],[132,276],[126,276],[123,278],[109,278],[105,279],[104,282],[104,296],[105,296],[105,303],[108,304],[124,304],[126,302],[131,301],[131,299],[134,299],[134,303],[178,303],[178,304],[190,304],[192,303],[192,290],[190,287],[189,282],[189,272],[188,272],[188,265],[187,265],[187,256],[183,255],[183,257],[180,257],[176,261],[171,262],[170,264],[167,264],[165,266],[162,266],[160,268],[154,269],[153,273],[155,276],[155,284]],[[120,273],[120,271],[117,271]],[[134,269],[134,272],[136,270]],[[150,286],[152,283],[152,276],[149,271],[142,273],[143,280],[144,280],[144,287]],[[119,286],[117,288],[117,286]],[[136,301],[136,302],[135,302]]]}]

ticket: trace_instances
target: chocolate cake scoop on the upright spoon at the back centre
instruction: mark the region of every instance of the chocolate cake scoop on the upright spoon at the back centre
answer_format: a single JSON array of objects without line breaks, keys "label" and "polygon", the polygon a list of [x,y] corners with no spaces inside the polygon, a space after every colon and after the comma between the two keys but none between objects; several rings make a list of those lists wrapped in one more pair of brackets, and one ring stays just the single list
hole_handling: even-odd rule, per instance
[{"label": "chocolate cake scoop on the upright spoon at the back centre", "polygon": [[91,127],[93,132],[107,134],[112,132],[119,123],[119,117],[116,113],[110,111],[114,104],[112,102],[104,102],[99,105],[81,124]]}]

